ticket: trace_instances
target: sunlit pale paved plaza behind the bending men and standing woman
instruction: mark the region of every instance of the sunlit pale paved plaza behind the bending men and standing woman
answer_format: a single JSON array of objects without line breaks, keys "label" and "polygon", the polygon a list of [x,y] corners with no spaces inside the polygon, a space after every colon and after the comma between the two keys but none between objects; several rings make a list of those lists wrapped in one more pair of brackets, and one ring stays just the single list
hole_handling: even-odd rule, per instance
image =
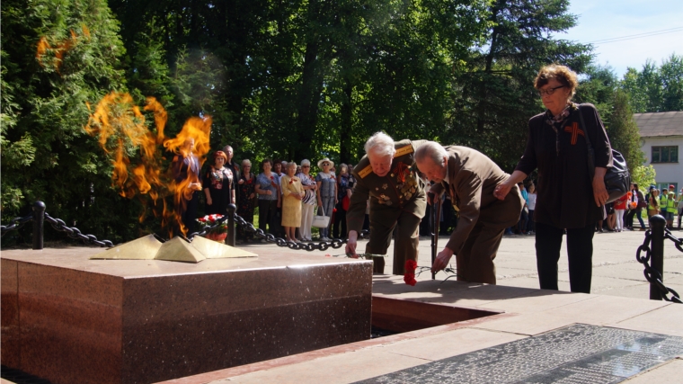
[{"label": "sunlit pale paved plaza behind the bending men and standing woman", "polygon": [[[683,237],[683,232],[674,230],[673,234]],[[635,260],[635,252],[638,246],[643,244],[644,232],[626,231],[620,233],[606,232],[596,233],[593,246],[593,281],[591,293],[601,295],[622,296],[627,298],[648,299],[650,295],[649,283],[643,276],[643,266]],[[439,237],[439,246],[442,249],[448,242],[448,237]],[[365,242],[359,242],[359,251],[365,249]],[[533,236],[508,236],[503,237],[501,248],[496,257],[496,274],[498,285],[523,288],[538,288],[538,275],[536,270],[536,250]],[[246,245],[258,253],[260,247],[277,248],[272,245]],[[430,266],[430,237],[421,237],[420,240],[420,266]],[[283,253],[300,253],[280,248]],[[326,252],[313,251],[324,254],[341,255],[342,249],[330,249]],[[394,249],[388,250],[390,257],[386,258],[385,271],[392,269],[392,257]],[[560,257],[559,287],[560,290],[569,289],[569,272],[567,267],[566,245],[563,244],[562,256]],[[453,259],[455,262],[455,258]],[[455,266],[455,263],[454,263]],[[430,273],[423,273],[418,281],[429,280]],[[437,274],[437,279],[443,280],[446,275],[443,272]],[[377,280],[377,277],[376,277]],[[664,246],[664,283],[673,290],[683,295],[683,253],[673,245],[670,240]]]}]

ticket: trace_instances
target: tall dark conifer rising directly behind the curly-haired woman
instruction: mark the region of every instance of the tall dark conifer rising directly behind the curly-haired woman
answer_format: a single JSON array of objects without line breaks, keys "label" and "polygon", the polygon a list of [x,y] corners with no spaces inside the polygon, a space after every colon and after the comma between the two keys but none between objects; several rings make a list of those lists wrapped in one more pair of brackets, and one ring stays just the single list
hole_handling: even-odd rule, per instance
[{"label": "tall dark conifer rising directly behind the curly-haired woman", "polygon": [[497,0],[492,28],[463,66],[454,67],[455,96],[444,141],[475,147],[511,170],[523,153],[528,119],[543,111],[533,87],[538,69],[558,62],[581,73],[590,46],[557,40],[576,24],[568,0]]}]

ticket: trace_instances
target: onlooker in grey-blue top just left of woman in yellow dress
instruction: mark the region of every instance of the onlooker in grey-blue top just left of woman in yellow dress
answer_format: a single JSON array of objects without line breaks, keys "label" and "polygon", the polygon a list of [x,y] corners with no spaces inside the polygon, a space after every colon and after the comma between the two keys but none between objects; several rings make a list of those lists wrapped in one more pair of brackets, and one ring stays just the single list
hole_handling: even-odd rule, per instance
[{"label": "onlooker in grey-blue top just left of woman in yellow dress", "polygon": [[[280,207],[279,176],[272,169],[272,160],[264,159],[261,162],[263,172],[256,176],[254,190],[259,195],[259,228],[263,232],[268,231],[273,236],[277,236],[279,228],[278,208]],[[266,226],[268,228],[266,229]],[[262,240],[265,242],[265,239]]]}]

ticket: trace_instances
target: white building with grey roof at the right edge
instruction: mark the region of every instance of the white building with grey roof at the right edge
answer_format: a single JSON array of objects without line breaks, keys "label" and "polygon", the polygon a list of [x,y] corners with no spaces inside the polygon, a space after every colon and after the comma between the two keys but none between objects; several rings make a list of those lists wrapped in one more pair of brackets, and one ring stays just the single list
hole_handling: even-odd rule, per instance
[{"label": "white building with grey roof at the right edge", "polygon": [[[652,165],[657,175],[657,188],[676,186],[676,195],[683,188],[683,111],[635,113],[635,123],[643,138],[645,165]],[[641,189],[647,186],[641,186]]]}]

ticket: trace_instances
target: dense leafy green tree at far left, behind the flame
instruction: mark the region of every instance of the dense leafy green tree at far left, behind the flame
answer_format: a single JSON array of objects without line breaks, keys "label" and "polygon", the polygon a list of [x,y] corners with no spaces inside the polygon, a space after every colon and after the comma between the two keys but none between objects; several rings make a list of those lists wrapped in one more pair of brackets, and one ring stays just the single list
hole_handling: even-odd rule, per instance
[{"label": "dense leafy green tree at far left, behind the flame", "polygon": [[124,49],[106,2],[8,0],[2,20],[3,219],[42,200],[53,217],[90,233],[130,233],[133,204],[111,189],[111,164],[83,129],[86,103],[124,86]]}]

